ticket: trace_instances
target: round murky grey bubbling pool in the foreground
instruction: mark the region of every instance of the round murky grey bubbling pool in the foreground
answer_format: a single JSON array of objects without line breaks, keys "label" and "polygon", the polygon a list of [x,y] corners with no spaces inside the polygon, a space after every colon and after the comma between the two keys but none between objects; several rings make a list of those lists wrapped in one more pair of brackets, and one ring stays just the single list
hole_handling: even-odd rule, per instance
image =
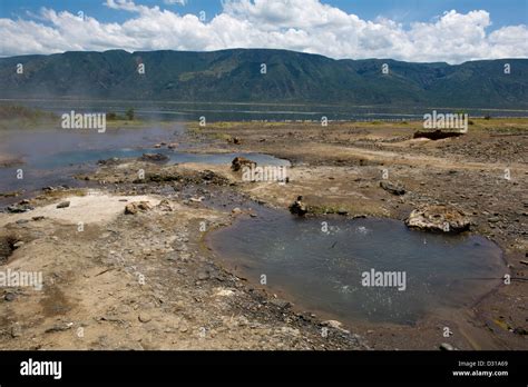
[{"label": "round murky grey bubbling pool in the foreground", "polygon": [[[265,275],[266,287],[345,321],[414,324],[437,309],[471,305],[506,272],[501,250],[486,238],[426,234],[390,219],[303,219],[265,210],[208,242],[255,284]],[[405,281],[364,286],[372,270],[400,279],[404,272]]]}]

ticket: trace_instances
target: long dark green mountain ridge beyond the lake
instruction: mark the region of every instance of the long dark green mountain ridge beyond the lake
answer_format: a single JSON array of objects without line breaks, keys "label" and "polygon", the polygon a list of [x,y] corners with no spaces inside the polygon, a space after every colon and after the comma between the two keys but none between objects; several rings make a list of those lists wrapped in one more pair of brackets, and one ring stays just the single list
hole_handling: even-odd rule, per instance
[{"label": "long dark green mountain ridge beyond the lake", "polygon": [[[146,73],[137,73],[140,56]],[[13,76],[23,63],[31,77]],[[261,73],[266,63],[267,73]],[[389,64],[389,75],[381,72]],[[503,73],[505,63],[515,71]],[[60,77],[58,76],[60,75]],[[528,59],[458,66],[285,50],[66,52],[0,59],[0,98],[528,108]]]}]

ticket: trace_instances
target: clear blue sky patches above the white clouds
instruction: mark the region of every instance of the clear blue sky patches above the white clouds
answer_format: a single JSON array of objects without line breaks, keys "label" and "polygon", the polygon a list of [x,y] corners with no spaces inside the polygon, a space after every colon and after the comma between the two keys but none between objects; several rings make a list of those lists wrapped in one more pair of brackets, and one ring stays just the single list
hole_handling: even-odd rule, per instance
[{"label": "clear blue sky patches above the white clouds", "polygon": [[[186,6],[166,4],[163,0],[137,0],[137,4],[159,6],[182,13],[195,13],[205,10],[209,17],[222,12],[221,0],[187,0]],[[443,11],[454,9],[468,12],[483,9],[490,12],[497,29],[509,24],[528,23],[528,0],[326,0],[322,1],[354,13],[363,19],[385,17],[403,23],[428,21]],[[1,0],[0,17],[25,17],[26,11],[38,11],[41,7],[55,10],[68,10],[77,13],[82,10],[87,14],[97,16],[101,21],[123,22],[126,12],[116,12],[104,6],[102,0]]]}]

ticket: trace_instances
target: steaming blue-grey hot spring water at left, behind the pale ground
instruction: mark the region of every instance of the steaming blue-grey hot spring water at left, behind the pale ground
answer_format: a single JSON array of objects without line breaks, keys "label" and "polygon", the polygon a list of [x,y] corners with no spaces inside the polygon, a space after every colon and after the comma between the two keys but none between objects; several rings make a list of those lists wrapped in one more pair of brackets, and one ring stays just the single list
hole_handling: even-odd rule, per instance
[{"label": "steaming blue-grey hot spring water at left, behind the pale ground", "polygon": [[[165,153],[169,163],[207,162],[229,165],[237,156],[243,156],[267,166],[287,166],[270,155],[261,153],[199,153],[193,152],[192,143],[182,145],[178,149],[154,149],[155,143],[179,141],[183,127],[150,126],[148,128],[107,129],[105,133],[96,130],[78,131],[42,128],[39,130],[11,130],[1,133],[0,153],[19,157],[23,163],[0,168],[0,192],[32,191],[46,186],[79,186],[84,182],[74,180],[75,173],[85,172],[96,167],[98,160],[113,157],[137,158],[143,153]],[[23,178],[19,179],[18,171]],[[2,200],[0,199],[0,205]]]}]

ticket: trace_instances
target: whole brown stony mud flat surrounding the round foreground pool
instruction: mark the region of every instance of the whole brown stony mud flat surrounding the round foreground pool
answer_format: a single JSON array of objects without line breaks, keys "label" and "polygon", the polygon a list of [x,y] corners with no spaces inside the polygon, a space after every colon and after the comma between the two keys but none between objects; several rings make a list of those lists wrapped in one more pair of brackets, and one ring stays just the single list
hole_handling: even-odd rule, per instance
[{"label": "whole brown stony mud flat surrounding the round foreground pool", "polygon": [[[79,177],[97,189],[45,192],[30,200],[32,211],[0,214],[4,245],[23,242],[2,270],[42,271],[45,282],[42,290],[3,289],[1,348],[528,348],[527,120],[476,120],[468,135],[438,141],[412,139],[418,123],[188,128],[201,151],[291,160],[289,183],[243,182],[229,166],[119,160]],[[503,249],[511,284],[456,316],[428,316],[412,327],[323,322],[331,317],[223,268],[205,242],[256,202],[286,210],[297,196],[322,216],[403,220],[423,206],[452,206],[470,219],[470,232]],[[65,200],[69,207],[57,208]],[[136,201],[148,205],[125,215]]]}]

